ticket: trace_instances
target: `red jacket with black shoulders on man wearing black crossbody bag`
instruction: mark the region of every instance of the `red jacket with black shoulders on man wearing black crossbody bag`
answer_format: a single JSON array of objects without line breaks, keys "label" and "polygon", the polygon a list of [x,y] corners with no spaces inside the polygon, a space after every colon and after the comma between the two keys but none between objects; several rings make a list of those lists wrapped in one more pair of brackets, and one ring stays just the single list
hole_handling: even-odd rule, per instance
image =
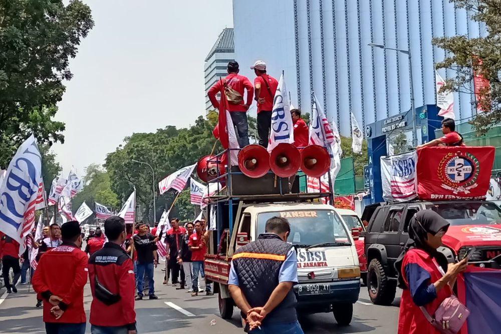
[{"label": "red jacket with black shoulders on man wearing black crossbody bag", "polygon": [[[120,300],[106,305],[96,298],[95,276],[111,293],[119,294]],[[127,252],[119,245],[107,242],[89,258],[89,280],[92,291],[90,323],[96,326],[127,326],[136,329],[134,311],[134,269]]]}]

